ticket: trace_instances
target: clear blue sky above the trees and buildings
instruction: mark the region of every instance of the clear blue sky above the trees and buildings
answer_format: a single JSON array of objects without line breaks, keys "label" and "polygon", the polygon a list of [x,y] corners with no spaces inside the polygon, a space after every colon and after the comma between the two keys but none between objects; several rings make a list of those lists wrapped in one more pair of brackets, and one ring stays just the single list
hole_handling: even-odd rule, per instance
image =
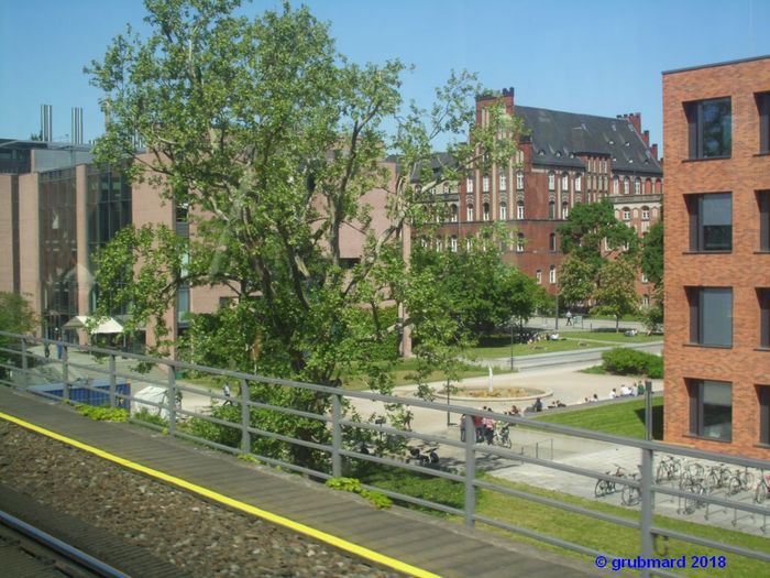
[{"label": "clear blue sky above the trees and buildings", "polygon": [[[485,87],[516,88],[516,102],[601,116],[641,112],[662,140],[661,72],[770,54],[770,0],[311,0],[354,62],[398,57],[416,69],[404,95],[427,106],[452,68]],[[277,2],[245,3],[257,14]],[[296,2],[295,2],[296,4]],[[84,65],[103,57],[140,0],[0,0],[0,138],[40,130],[68,140],[70,108],[85,138],[101,132],[100,94]]]}]

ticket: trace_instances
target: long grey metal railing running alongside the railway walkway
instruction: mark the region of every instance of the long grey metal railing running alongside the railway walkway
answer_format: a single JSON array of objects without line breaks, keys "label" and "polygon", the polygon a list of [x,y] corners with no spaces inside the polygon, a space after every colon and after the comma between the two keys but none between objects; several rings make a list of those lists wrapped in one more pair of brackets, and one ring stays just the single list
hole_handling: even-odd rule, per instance
[{"label": "long grey metal railing running alongside the railway walkway", "polygon": [[[100,361],[96,362],[95,359]],[[133,369],[132,363],[143,363],[156,369],[150,373],[139,373]],[[238,383],[240,388],[235,395],[230,395],[229,392],[226,394],[219,389],[212,390],[190,383],[184,378],[177,378],[184,372],[215,377],[233,385]],[[97,379],[106,382],[107,386],[98,386]],[[131,389],[124,390],[128,393],[119,390],[118,385],[121,382],[132,384]],[[733,527],[745,530],[746,524],[750,523],[751,532],[765,534],[770,530],[767,523],[770,508],[765,502],[766,495],[770,499],[770,489],[768,489],[770,476],[766,473],[770,472],[770,462],[766,460],[629,439],[526,417],[480,411],[475,407],[452,404],[449,401],[439,403],[417,397],[349,391],[6,332],[0,332],[0,383],[65,401],[72,397],[75,386],[102,395],[107,393],[111,407],[118,407],[128,402],[132,408],[139,404],[154,408],[158,415],[165,416],[164,423],[167,424],[165,427],[172,436],[191,439],[231,454],[253,456],[262,462],[311,476],[315,479],[340,477],[352,462],[369,464],[375,470],[395,468],[425,477],[442,478],[455,484],[457,488],[462,488],[464,499],[461,505],[438,503],[425,497],[383,489],[376,484],[364,484],[364,487],[380,491],[399,503],[459,516],[468,526],[481,523],[592,557],[606,556],[613,559],[617,554],[600,552],[586,546],[585,543],[562,539],[525,527],[524,524],[510,523],[503,517],[480,514],[476,512],[480,493],[505,494],[546,509],[558,509],[632,528],[638,532],[638,555],[642,558],[664,555],[661,548],[666,548],[670,539],[770,563],[769,549],[751,549],[729,544],[727,541],[721,542],[695,533],[674,531],[664,527],[666,524],[660,522],[661,519],[653,519],[659,514],[675,517],[700,512],[697,515],[703,516],[706,524],[721,519],[723,524],[729,522]],[[59,383],[61,392],[52,393],[50,386],[47,391],[46,388],[40,386],[51,383]],[[328,395],[331,400],[330,411],[321,415],[296,407],[265,403],[253,394],[252,386],[257,383]],[[161,388],[164,392],[163,399],[151,401],[143,396],[141,390],[147,385]],[[218,408],[224,404],[240,407],[240,412],[230,412],[229,417],[223,418]],[[385,406],[408,407],[410,412],[414,411],[415,417],[408,426],[403,422],[388,422],[382,418]],[[350,407],[356,407],[360,412],[371,412],[372,417],[356,418],[351,415]],[[271,430],[263,425],[254,427],[251,415],[258,410],[320,422],[324,424],[326,432],[329,434],[329,443],[293,437],[286,433]],[[233,418],[233,415],[237,417]],[[438,416],[442,417],[438,418]],[[460,419],[460,416],[465,418]],[[498,433],[507,426],[506,443],[497,445],[481,440],[482,438],[477,437],[474,416],[494,419]],[[448,425],[451,422],[450,417],[453,417],[455,423],[464,424],[464,435],[461,436],[458,427]],[[239,443],[230,446],[193,435],[189,428],[185,427],[190,419],[232,429],[237,432],[235,437]],[[437,427],[436,424],[442,425]],[[378,436],[381,439],[404,440],[413,447],[415,445],[436,447],[440,456],[439,464],[431,464],[428,454],[418,448],[411,456],[413,459],[408,459],[408,455],[370,451],[365,446],[351,443],[351,433],[365,434],[370,438]],[[528,443],[525,438],[531,437],[534,433],[540,438]],[[282,457],[253,454],[253,443],[258,438],[323,452],[329,457],[330,467],[328,470],[314,469],[307,464],[289,461]],[[576,448],[575,455],[581,452],[582,445],[614,448],[618,452],[630,452],[634,456],[634,464],[625,468],[625,471],[620,467],[614,471],[606,471],[606,466],[603,466],[601,460],[592,462],[591,467],[575,465],[570,460],[557,460],[554,443]],[[557,454],[562,455],[559,451]],[[730,470],[727,465],[736,469]],[[635,467],[638,467],[638,473],[628,473],[628,470],[634,470]],[[518,471],[516,468],[529,468],[530,471],[543,471],[550,475],[556,472],[557,477],[574,480],[571,483],[574,483],[575,488],[585,490],[583,493],[587,492],[592,499],[600,502],[606,502],[610,497],[619,495],[620,503],[632,509],[638,515],[628,517],[618,515],[612,510],[591,508],[581,502],[564,500],[560,494],[546,495],[532,491],[537,489],[537,483],[516,484],[502,480],[501,472],[516,472]],[[494,470],[492,475],[490,469]],[[722,477],[718,482],[714,482],[713,476],[719,471],[723,472]],[[741,471],[743,481],[738,480]],[[748,480],[749,473],[755,478],[751,482]],[[509,476],[509,479],[517,481],[516,473]],[[707,481],[710,479],[711,482]],[[755,482],[756,486],[754,486]],[[642,576],[681,576],[662,568],[644,568],[640,572]]]}]

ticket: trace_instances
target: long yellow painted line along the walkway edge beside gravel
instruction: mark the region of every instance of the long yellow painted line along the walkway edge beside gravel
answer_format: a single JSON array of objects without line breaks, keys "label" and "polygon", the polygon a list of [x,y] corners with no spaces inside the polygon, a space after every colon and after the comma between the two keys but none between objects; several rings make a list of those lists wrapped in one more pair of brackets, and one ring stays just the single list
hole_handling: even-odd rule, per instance
[{"label": "long yellow painted line along the walkway edge beside gravel", "polygon": [[440,578],[439,575],[430,572],[428,570],[424,570],[422,568],[418,568],[416,566],[411,566],[410,564],[405,564],[400,560],[397,560],[395,558],[392,558],[389,556],[385,556],[383,554],[380,554],[378,552],[374,552],[372,549],[369,549],[364,546],[359,546],[358,544],[353,544],[352,542],[349,542],[344,538],[334,536],[332,534],[329,534],[327,532],[316,530],[315,527],[310,527],[308,525],[301,524],[299,522],[295,522],[294,520],[289,520],[288,517],[284,517],[278,514],[274,514],[273,512],[268,512],[267,510],[262,510],[261,508],[256,508],[254,505],[248,504],[245,502],[241,502],[239,500],[234,500],[232,498],[229,498],[224,494],[221,494],[219,492],[216,492],[213,490],[209,490],[208,488],[204,488],[202,486],[198,486],[196,483],[190,483],[187,480],[183,480],[182,478],[177,478],[175,476],[170,476],[168,473],[165,473],[160,470],[155,470],[153,468],[147,468],[146,466],[142,466],[141,464],[135,464],[131,460],[128,460],[125,458],[121,458],[120,456],[116,456],[113,454],[110,454],[109,451],[105,451],[102,449],[96,448],[94,446],[89,446],[88,444],[84,444],[82,441],[78,441],[77,439],[69,438],[67,436],[63,436],[61,434],[57,434],[56,432],[52,432],[51,429],[46,429],[44,427],[40,427],[35,424],[32,424],[30,422],[26,422],[24,419],[21,419],[19,417],[15,417],[13,415],[6,414],[3,412],[0,412],[0,418],[6,419],[8,422],[11,422],[13,424],[16,424],[21,427],[24,427],[26,429],[30,429],[32,432],[36,432],[38,434],[42,434],[44,436],[47,436],[50,438],[56,439],[58,441],[62,441],[64,444],[67,444],[68,446],[76,447],[78,449],[81,449],[84,451],[88,451],[89,454],[94,454],[95,456],[98,456],[102,459],[112,461],[114,464],[118,464],[120,466],[123,466],[125,468],[140,471],[146,476],[151,476],[153,478],[156,478],[158,480],[163,480],[168,483],[173,483],[174,486],[178,486],[179,488],[184,488],[185,490],[188,490],[190,492],[197,493],[199,495],[202,495],[205,498],[208,498],[210,500],[215,500],[219,503],[229,505],[230,508],[234,508],[237,510],[240,510],[242,512],[246,512],[249,514],[262,517],[263,520],[267,520],[268,522],[273,522],[274,524],[278,524],[280,526],[287,527],[289,530],[293,530],[295,532],[299,532],[300,534],[305,534],[306,536],[310,536],[312,538],[316,538],[320,542],[326,542],[327,544],[334,546],[337,548],[340,548],[342,550],[349,552],[351,554],[355,554],[356,556],[360,556],[362,558],[365,558],[367,560],[381,564],[383,566],[387,566],[388,568],[393,568],[394,570],[398,570],[405,574],[409,574],[411,576],[415,576],[417,578]]}]

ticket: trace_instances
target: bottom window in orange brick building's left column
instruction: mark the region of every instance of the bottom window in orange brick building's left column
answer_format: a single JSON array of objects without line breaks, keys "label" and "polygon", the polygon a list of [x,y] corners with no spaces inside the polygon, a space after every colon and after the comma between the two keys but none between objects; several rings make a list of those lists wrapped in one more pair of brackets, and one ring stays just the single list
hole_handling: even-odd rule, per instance
[{"label": "bottom window in orange brick building's left column", "polygon": [[733,385],[713,380],[688,380],[690,433],[730,441],[733,439]]}]

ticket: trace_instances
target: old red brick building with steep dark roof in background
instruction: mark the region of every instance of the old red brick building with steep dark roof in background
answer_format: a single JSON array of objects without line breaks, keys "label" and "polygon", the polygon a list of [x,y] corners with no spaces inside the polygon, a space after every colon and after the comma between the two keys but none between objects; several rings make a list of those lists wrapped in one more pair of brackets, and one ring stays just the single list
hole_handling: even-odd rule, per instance
[{"label": "old red brick building with steep dark roof in background", "polygon": [[[501,98],[529,134],[507,166],[493,166],[488,174],[476,170],[443,192],[450,222],[439,229],[437,242],[454,250],[484,225],[505,222],[514,237],[504,260],[556,293],[563,259],[557,229],[576,204],[608,198],[616,217],[640,236],[660,218],[658,146],[650,145],[639,113],[609,118],[520,107],[513,88],[477,97],[476,122],[484,122],[484,108]],[[642,299],[649,299],[651,284],[638,281]]]}]

